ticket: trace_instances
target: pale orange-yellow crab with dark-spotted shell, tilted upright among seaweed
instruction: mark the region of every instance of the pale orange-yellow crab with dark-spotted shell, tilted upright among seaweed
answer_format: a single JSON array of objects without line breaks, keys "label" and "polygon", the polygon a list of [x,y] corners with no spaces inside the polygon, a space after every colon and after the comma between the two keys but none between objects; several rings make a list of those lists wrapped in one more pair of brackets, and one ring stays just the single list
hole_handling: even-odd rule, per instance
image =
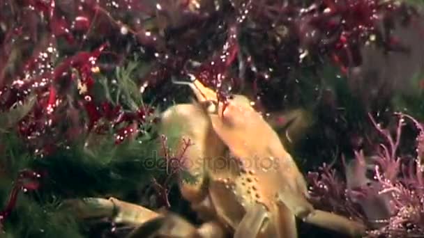
[{"label": "pale orange-yellow crab with dark-spotted shell, tilted upright among seaweed", "polygon": [[[296,162],[246,97],[234,95],[222,102],[197,79],[185,84],[195,100],[164,111],[160,132],[192,141],[185,164],[197,179],[181,182],[180,190],[204,223],[195,227],[169,212],[92,198],[98,207],[117,211],[115,222],[138,225],[129,237],[295,238],[296,219],[351,237],[365,234],[363,223],[312,206]],[[176,143],[172,149],[183,146]]]}]

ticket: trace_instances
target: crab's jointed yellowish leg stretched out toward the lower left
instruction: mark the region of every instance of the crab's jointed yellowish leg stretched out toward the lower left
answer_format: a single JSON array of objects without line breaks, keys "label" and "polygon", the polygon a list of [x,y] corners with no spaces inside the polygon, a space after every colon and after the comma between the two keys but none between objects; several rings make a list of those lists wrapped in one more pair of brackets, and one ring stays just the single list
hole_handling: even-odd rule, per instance
[{"label": "crab's jointed yellowish leg stretched out toward the lower left", "polygon": [[137,237],[187,237],[223,238],[225,229],[215,221],[203,223],[196,228],[185,219],[172,213],[153,212],[145,207],[126,203],[116,198],[69,199],[63,203],[80,219],[111,218],[114,223],[136,226],[126,238]]}]

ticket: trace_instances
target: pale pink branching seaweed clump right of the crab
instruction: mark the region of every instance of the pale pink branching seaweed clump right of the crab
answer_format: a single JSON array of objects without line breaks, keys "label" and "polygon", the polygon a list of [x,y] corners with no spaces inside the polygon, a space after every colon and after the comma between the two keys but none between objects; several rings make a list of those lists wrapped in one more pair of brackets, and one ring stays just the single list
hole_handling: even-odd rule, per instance
[{"label": "pale pink branching seaweed clump right of the crab", "polygon": [[[421,237],[423,235],[423,125],[398,113],[394,133],[374,121],[383,142],[372,154],[355,152],[344,175],[324,164],[308,174],[312,200],[321,208],[364,221],[367,237]],[[415,156],[400,154],[402,127],[418,130]],[[394,135],[393,135],[394,134]]]}]

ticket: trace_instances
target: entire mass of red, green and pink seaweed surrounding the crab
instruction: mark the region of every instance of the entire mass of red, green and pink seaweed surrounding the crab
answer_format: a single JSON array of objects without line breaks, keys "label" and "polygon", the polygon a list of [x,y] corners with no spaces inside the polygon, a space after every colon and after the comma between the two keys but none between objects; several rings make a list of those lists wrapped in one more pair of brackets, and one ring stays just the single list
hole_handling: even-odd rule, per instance
[{"label": "entire mass of red, green and pink seaweed surrounding the crab", "polygon": [[200,223],[175,189],[181,177],[146,169],[167,147],[156,148],[159,113],[192,97],[174,83],[197,79],[218,102],[245,95],[263,114],[317,209],[364,223],[368,237],[423,237],[422,7],[0,0],[2,235],[128,232],[61,210],[86,197],[166,207]]}]

